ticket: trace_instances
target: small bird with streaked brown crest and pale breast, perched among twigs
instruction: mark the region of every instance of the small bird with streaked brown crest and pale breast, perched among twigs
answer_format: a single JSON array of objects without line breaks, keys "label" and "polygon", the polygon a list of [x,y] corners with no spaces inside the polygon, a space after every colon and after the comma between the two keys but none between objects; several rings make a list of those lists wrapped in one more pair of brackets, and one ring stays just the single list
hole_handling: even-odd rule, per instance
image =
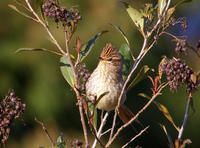
[{"label": "small bird with streaked brown crest and pale breast, perched among twigs", "polygon": [[[122,77],[122,57],[109,43],[103,48],[96,69],[86,82],[86,95],[89,100],[98,102],[97,108],[101,110],[114,110],[124,84]],[[102,94],[106,93],[99,101]],[[134,115],[124,105],[126,91],[121,98],[118,115],[123,122],[128,122]]]}]

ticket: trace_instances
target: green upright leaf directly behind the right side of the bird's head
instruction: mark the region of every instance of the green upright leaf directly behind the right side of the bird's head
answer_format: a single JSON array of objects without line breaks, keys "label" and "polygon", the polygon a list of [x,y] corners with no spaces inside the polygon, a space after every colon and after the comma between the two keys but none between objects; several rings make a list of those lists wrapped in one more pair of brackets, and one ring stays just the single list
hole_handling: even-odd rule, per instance
[{"label": "green upright leaf directly behind the right side of the bird's head", "polygon": [[126,80],[130,72],[131,61],[132,61],[129,46],[127,44],[122,44],[119,49],[119,53],[121,54],[123,60],[123,67],[122,67],[123,79]]}]

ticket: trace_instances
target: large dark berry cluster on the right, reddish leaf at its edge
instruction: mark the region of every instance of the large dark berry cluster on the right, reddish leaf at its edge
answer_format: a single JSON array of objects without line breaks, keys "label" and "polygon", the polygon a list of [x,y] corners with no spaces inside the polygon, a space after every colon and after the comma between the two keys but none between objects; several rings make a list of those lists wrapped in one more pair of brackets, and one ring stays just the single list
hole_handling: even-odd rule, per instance
[{"label": "large dark berry cluster on the right, reddish leaf at its edge", "polygon": [[165,59],[165,61],[160,64],[159,70],[165,74],[167,80],[170,81],[170,90],[176,90],[179,84],[187,85],[187,93],[192,93],[196,90],[197,81],[194,79],[196,76],[194,71],[180,59]]}]

